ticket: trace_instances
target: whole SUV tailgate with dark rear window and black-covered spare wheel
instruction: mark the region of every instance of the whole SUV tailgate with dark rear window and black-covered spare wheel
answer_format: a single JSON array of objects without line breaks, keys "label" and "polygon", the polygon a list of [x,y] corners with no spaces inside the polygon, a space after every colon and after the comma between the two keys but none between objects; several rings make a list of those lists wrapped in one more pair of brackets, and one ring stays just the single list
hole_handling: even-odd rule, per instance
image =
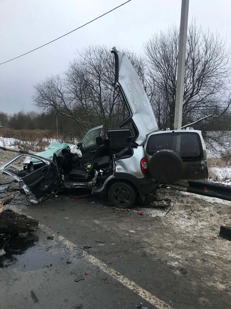
[{"label": "whole SUV tailgate with dark rear window and black-covered spare wheel", "polygon": [[208,179],[207,154],[201,131],[160,131],[144,146],[148,169],[161,183]]}]

